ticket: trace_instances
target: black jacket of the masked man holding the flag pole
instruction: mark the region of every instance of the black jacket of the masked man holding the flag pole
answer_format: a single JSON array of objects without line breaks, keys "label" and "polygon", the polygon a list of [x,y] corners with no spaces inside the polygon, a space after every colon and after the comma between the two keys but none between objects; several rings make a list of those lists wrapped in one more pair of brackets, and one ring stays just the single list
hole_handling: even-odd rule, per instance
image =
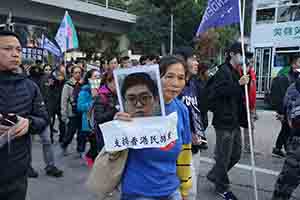
[{"label": "black jacket of the masked man holding the flag pole", "polygon": [[219,67],[212,85],[214,91],[213,126],[232,130],[247,126],[243,87],[239,85],[240,75],[229,63]]}]

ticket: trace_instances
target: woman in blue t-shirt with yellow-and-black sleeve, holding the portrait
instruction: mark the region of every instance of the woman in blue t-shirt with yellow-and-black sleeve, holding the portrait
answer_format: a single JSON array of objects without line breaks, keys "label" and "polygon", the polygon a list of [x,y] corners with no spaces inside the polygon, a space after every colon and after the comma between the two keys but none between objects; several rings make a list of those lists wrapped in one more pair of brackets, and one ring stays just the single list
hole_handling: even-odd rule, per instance
[{"label": "woman in blue t-shirt with yellow-and-black sleeve, holding the portrait", "polygon": [[[164,148],[129,150],[121,182],[122,200],[187,199],[192,186],[191,131],[188,110],[177,99],[185,86],[186,73],[181,59],[162,58],[160,76],[166,114],[178,114],[178,139]],[[115,119],[130,121],[131,116],[117,113]]]}]

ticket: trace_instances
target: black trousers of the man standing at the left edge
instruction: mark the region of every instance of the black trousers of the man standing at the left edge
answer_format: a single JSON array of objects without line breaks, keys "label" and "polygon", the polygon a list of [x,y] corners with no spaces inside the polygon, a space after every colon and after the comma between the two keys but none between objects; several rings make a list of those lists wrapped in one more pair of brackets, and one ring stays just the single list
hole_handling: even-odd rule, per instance
[{"label": "black trousers of the man standing at the left edge", "polygon": [[27,176],[19,177],[9,183],[0,184],[1,200],[25,200],[27,193]]}]

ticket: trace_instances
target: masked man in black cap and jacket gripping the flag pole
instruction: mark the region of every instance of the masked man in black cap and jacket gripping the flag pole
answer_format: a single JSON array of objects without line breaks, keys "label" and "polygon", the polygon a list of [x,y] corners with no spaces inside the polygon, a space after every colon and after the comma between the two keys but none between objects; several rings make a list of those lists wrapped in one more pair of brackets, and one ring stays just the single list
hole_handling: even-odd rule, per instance
[{"label": "masked man in black cap and jacket gripping the flag pole", "polygon": [[241,157],[241,129],[246,122],[246,110],[243,103],[243,86],[249,82],[248,76],[240,77],[242,64],[240,43],[233,44],[227,51],[226,62],[214,76],[212,90],[214,106],[213,126],[216,130],[216,164],[207,178],[216,186],[216,192],[225,200],[236,200],[230,191],[228,171]]}]

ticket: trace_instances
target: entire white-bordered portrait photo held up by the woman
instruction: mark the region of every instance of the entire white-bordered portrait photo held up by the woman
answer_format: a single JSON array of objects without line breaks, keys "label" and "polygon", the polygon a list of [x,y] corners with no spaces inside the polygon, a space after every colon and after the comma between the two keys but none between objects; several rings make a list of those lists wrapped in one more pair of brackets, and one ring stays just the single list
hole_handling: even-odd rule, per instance
[{"label": "entire white-bordered portrait photo held up by the woman", "polygon": [[165,116],[158,65],[114,71],[122,112],[132,117]]}]

